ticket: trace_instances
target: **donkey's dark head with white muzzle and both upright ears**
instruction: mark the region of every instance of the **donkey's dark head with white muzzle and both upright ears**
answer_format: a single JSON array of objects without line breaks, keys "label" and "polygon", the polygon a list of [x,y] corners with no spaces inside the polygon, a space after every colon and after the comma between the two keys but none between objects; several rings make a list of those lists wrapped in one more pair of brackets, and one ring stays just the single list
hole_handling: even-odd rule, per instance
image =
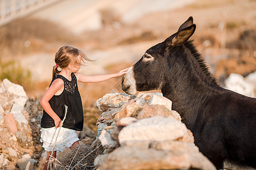
[{"label": "donkey's dark head with white muzzle and both upright ears", "polygon": [[[171,74],[166,71],[177,70],[172,67],[172,64],[177,62],[179,51],[184,50],[179,46],[182,46],[193,35],[195,29],[196,25],[193,24],[191,16],[176,33],[148,49],[142,58],[127,71],[122,79],[122,90],[127,94],[136,94],[137,91],[161,90],[167,80],[166,74]],[[182,60],[182,58],[178,60]]]}]

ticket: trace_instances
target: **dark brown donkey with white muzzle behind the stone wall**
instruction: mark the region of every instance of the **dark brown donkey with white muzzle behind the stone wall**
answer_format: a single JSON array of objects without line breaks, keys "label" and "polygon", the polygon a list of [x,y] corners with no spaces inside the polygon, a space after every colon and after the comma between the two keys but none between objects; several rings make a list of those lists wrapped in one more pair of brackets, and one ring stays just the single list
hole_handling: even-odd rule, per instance
[{"label": "dark brown donkey with white muzzle behind the stone wall", "polygon": [[161,90],[216,168],[225,160],[256,167],[256,99],[218,85],[188,40],[195,29],[190,16],[176,33],[148,49],[122,78],[122,90]]}]

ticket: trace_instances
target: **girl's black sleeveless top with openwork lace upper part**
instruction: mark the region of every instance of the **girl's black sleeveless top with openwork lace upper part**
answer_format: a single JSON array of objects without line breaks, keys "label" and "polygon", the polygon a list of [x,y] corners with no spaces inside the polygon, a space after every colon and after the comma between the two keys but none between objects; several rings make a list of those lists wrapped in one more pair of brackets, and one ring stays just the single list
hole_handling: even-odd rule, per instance
[{"label": "girl's black sleeveless top with openwork lace upper part", "polygon": [[[69,81],[62,75],[56,75],[55,79],[62,79],[64,82],[64,90],[60,95],[54,95],[49,100],[49,104],[53,111],[63,120],[65,116],[65,106],[68,106],[67,116],[63,122],[63,128],[73,129],[81,131],[84,125],[84,115],[82,111],[82,101],[77,87],[76,75],[71,74],[72,80]],[[51,84],[52,84],[51,82]],[[50,86],[51,86],[50,84]],[[54,120],[46,111],[43,111],[43,117],[41,120],[42,128],[52,128],[55,126]]]}]

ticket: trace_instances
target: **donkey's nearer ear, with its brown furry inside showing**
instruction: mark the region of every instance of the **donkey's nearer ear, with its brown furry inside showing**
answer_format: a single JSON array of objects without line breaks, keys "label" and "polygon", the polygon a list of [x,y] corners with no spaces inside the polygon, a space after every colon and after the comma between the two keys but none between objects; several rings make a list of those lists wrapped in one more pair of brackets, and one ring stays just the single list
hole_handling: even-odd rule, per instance
[{"label": "donkey's nearer ear, with its brown furry inside showing", "polygon": [[175,34],[174,38],[169,39],[172,36],[168,38],[167,45],[175,46],[175,45],[183,44],[185,41],[189,39],[189,37],[193,35],[195,30],[196,30],[196,24],[192,24],[189,27],[181,29]]}]

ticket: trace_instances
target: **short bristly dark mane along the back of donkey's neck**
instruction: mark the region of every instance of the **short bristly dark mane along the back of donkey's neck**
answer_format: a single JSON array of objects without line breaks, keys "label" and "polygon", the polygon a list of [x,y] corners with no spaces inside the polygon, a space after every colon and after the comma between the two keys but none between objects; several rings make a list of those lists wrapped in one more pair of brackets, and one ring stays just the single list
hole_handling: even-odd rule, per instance
[{"label": "short bristly dark mane along the back of donkey's neck", "polygon": [[199,63],[199,66],[203,70],[203,73],[209,78],[210,82],[218,86],[216,79],[213,77],[212,73],[210,73],[209,67],[204,61],[204,57],[201,56],[201,54],[197,51],[195,44],[193,43],[193,40],[185,42],[185,46],[190,50],[193,57],[196,59],[197,63]]}]

